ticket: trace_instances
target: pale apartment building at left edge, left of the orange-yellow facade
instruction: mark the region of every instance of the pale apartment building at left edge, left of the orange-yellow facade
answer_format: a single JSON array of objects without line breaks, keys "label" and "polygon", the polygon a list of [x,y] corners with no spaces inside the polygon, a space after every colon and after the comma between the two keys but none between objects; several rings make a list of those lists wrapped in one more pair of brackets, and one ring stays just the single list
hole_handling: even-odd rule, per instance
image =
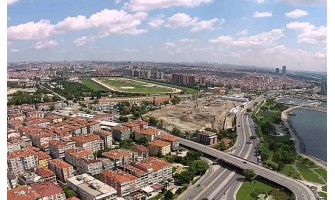
[{"label": "pale apartment building at left edge, left of the orange-yellow facade", "polygon": [[7,153],[8,170],[15,175],[20,175],[25,170],[33,169],[38,166],[38,153],[32,148],[16,150]]}]

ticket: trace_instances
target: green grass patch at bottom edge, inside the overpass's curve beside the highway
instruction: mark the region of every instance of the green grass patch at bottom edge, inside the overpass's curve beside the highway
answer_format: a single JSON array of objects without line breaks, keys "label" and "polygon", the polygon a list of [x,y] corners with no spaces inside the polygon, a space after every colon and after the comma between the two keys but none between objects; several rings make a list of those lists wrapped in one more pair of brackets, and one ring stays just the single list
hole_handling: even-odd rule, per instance
[{"label": "green grass patch at bottom edge, inside the overpass's curve beside the highway", "polygon": [[255,190],[264,191],[264,193],[271,191],[272,187],[262,183],[260,181],[255,181],[255,184],[249,181],[245,181],[241,188],[238,190],[236,199],[237,200],[254,200],[250,194]]}]

